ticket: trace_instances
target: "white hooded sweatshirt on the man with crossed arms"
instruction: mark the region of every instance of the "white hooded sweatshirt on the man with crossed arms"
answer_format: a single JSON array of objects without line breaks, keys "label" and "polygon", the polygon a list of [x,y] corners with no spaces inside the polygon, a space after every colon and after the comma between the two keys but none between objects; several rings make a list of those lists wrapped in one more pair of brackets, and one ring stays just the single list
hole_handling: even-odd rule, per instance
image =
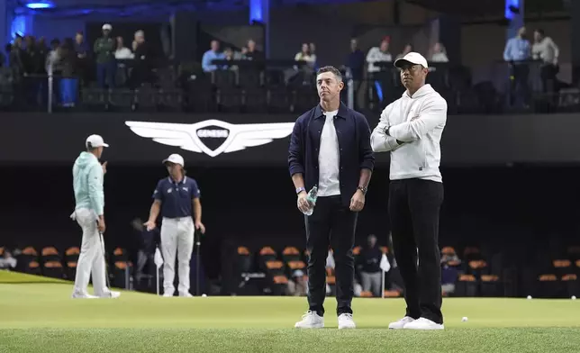
[{"label": "white hooded sweatshirt on the man with crossed arms", "polygon": [[371,134],[375,152],[391,152],[391,180],[420,178],[442,182],[440,140],[447,102],[430,86],[386,106]]}]

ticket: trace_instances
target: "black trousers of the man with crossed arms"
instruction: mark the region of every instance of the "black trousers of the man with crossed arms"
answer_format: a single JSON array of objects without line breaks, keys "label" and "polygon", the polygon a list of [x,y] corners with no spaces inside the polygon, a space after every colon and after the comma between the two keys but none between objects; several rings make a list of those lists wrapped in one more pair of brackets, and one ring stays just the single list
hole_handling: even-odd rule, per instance
[{"label": "black trousers of the man with crossed arms", "polygon": [[403,179],[389,185],[394,258],[403,277],[406,316],[437,323],[443,323],[438,245],[442,203],[442,183]]}]

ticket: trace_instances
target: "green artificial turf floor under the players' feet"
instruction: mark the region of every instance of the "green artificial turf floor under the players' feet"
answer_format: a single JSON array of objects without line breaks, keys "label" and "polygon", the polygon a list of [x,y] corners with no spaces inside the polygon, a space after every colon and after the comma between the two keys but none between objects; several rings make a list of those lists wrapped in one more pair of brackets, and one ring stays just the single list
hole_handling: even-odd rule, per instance
[{"label": "green artificial turf floor under the players' feet", "polygon": [[[16,280],[14,280],[16,282]],[[0,352],[578,352],[580,302],[446,299],[444,331],[386,330],[400,299],[355,299],[358,330],[294,330],[305,298],[73,300],[72,285],[0,284]],[[468,317],[462,322],[463,316]]]}]

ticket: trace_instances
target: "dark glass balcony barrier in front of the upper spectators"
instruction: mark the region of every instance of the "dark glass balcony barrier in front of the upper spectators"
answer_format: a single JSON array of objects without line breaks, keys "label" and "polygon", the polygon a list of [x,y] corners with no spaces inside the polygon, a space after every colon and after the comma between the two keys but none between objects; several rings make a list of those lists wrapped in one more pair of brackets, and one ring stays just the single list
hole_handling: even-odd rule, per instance
[{"label": "dark glass balcony barrier in front of the upper spectators", "polygon": [[[59,71],[14,78],[10,68],[0,68],[0,110],[304,113],[319,99],[315,68],[280,61],[222,65],[209,73],[187,65],[143,70],[119,62],[113,88]],[[399,70],[392,63],[378,66],[359,80],[342,68],[343,102],[380,113],[403,95]],[[476,72],[435,63],[427,82],[447,100],[449,114],[580,112],[580,91],[553,77],[538,62],[494,63]]]}]

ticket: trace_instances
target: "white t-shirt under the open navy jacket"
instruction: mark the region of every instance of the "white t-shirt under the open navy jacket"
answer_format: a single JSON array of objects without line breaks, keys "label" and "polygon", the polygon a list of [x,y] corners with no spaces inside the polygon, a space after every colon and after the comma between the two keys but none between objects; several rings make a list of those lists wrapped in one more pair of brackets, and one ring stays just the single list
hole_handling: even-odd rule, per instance
[{"label": "white t-shirt under the open navy jacket", "polygon": [[325,112],[322,127],[321,147],[318,153],[318,196],[340,195],[340,152],[339,137],[334,127],[338,110]]}]

